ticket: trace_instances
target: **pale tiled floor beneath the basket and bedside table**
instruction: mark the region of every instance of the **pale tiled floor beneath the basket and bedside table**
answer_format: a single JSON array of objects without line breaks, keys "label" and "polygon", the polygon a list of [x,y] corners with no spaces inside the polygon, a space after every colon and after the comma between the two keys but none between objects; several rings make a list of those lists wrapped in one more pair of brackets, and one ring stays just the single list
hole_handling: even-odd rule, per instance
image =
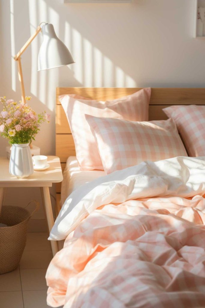
[{"label": "pale tiled floor beneath the basket and bedside table", "polygon": [[46,269],[52,259],[47,233],[28,233],[26,247],[13,272],[0,275],[1,308],[45,308]]}]

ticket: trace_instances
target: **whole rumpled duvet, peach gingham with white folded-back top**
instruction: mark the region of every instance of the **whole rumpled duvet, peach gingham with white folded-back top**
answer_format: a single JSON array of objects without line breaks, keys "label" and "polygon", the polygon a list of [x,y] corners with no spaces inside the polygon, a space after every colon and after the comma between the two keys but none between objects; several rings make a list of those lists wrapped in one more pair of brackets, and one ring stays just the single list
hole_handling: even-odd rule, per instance
[{"label": "whole rumpled duvet, peach gingham with white folded-back top", "polygon": [[75,190],[50,233],[47,303],[205,307],[205,157],[114,172]]}]

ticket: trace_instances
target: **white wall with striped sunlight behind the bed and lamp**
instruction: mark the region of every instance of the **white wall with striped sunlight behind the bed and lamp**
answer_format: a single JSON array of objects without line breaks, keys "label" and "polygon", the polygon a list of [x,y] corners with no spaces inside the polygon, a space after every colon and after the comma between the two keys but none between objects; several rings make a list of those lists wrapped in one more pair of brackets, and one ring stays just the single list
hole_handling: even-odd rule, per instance
[{"label": "white wall with striped sunlight behind the bed and lamp", "polygon": [[[51,113],[36,143],[55,153],[56,87],[205,87],[205,38],[194,39],[194,0],[133,0],[129,4],[64,4],[63,0],[0,0],[0,96],[20,99],[12,56],[40,22],[53,23],[75,64],[37,72],[41,35],[22,55],[26,95],[37,112]],[[0,139],[0,155],[6,140]],[[21,190],[18,203],[36,197]],[[17,190],[7,204],[17,202]],[[24,199],[22,199],[24,196]],[[37,195],[40,200],[40,196]],[[43,211],[36,216],[42,218]],[[35,225],[35,224],[33,224]],[[38,222],[37,229],[42,229]]]}]

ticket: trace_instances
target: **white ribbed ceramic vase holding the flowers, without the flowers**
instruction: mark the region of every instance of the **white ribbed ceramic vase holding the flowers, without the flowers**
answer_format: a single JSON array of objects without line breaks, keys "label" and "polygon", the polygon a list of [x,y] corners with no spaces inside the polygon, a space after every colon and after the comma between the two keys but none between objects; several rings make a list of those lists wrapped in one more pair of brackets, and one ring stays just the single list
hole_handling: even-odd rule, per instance
[{"label": "white ribbed ceramic vase holding the flowers, without the flowers", "polygon": [[25,178],[34,173],[29,143],[12,144],[9,172],[18,178]]}]

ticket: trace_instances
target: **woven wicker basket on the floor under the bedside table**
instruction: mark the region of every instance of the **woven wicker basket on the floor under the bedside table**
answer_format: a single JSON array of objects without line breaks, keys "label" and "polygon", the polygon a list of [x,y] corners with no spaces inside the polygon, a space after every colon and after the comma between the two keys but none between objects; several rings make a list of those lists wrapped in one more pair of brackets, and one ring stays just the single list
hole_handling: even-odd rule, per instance
[{"label": "woven wicker basket on the floor under the bedside table", "polygon": [[0,222],[8,227],[0,227],[0,274],[15,270],[21,260],[26,245],[28,221],[39,208],[36,200],[31,202],[36,203],[31,214],[19,206],[2,206]]}]

